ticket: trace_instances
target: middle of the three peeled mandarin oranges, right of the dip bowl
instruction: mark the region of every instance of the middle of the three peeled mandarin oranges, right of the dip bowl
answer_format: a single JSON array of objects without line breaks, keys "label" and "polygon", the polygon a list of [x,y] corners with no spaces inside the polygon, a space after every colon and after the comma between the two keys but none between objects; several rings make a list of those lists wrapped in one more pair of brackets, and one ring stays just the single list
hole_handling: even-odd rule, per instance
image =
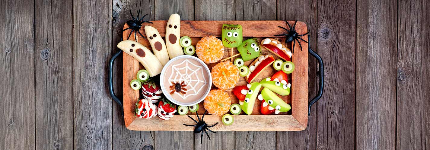
[{"label": "middle of the three peeled mandarin oranges, right of the dip bowl", "polygon": [[221,90],[228,90],[236,86],[239,81],[239,69],[229,61],[220,62],[211,71],[212,83]]}]

